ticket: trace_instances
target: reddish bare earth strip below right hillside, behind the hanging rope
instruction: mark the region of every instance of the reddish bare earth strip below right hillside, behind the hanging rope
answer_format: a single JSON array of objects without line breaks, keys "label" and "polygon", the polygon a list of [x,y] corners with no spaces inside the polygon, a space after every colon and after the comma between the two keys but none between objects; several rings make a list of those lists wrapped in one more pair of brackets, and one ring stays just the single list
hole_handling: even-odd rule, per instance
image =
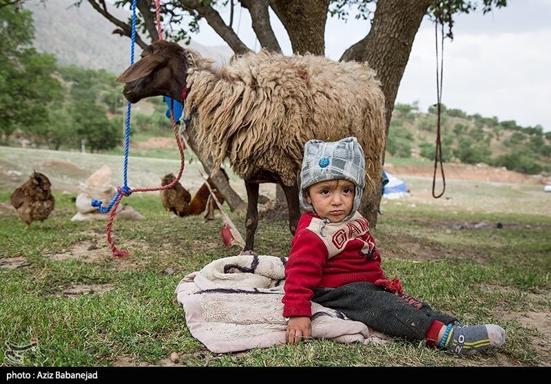
[{"label": "reddish bare earth strip below right hillside, behind the hanging rope", "polygon": [[[434,165],[393,165],[386,163],[384,170],[396,176],[433,177]],[[530,176],[504,168],[468,164],[444,165],[446,179],[486,181],[497,183],[545,184],[545,178]]]}]

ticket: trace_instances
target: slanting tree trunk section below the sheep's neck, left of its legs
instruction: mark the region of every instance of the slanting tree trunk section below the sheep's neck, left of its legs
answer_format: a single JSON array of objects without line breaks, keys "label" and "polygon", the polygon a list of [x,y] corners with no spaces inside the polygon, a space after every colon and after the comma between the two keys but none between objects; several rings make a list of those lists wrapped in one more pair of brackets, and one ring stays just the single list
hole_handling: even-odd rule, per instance
[{"label": "slanting tree trunk section below the sheep's neck, left of its legs", "polygon": [[229,208],[232,212],[241,212],[247,209],[247,204],[243,201],[240,196],[234,191],[229,182],[226,180],[222,172],[218,170],[213,170],[214,161],[212,161],[211,156],[204,156],[199,150],[197,145],[197,132],[191,126],[187,125],[185,129],[187,133],[187,143],[191,147],[191,150],[195,152],[199,161],[202,163],[202,167],[205,168],[205,171],[210,175],[212,182],[216,185],[216,189],[222,196],[225,201],[227,201]]}]

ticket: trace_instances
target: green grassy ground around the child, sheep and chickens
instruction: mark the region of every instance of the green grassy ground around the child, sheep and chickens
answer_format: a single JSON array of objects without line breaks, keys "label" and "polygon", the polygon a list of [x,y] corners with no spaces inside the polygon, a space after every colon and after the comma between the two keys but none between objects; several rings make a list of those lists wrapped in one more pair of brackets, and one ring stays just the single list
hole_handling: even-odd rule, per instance
[{"label": "green grassy ground around the child, sheep and chickens", "polygon": [[[2,150],[0,165],[9,162],[10,169],[21,172],[36,165],[33,161],[52,159],[52,154],[24,150],[28,151],[25,164],[21,154]],[[107,155],[90,155],[87,161],[70,152],[59,156],[63,158],[57,161],[79,168],[80,173],[67,176],[75,181],[104,159],[121,162],[116,156],[103,157]],[[74,169],[66,163],[52,163],[48,171],[63,180],[63,174]],[[160,179],[164,165],[177,168],[174,162],[144,158],[132,159],[131,165],[131,176],[143,180]],[[201,216],[167,216],[158,194],[133,194],[124,202],[146,220],[114,223],[116,244],[131,256],[112,259],[105,247],[105,222],[70,221],[76,192],[63,194],[65,186],[56,188],[56,208],[50,218],[25,231],[17,214],[6,208],[12,185],[21,180],[9,182],[0,185],[0,261],[18,259],[28,265],[0,267],[0,342],[23,344],[37,338],[37,350],[23,354],[25,365],[116,365],[121,358],[136,365],[162,365],[171,352],[178,352],[183,364],[199,366],[551,364],[545,350],[551,335],[542,332],[547,328],[527,323],[530,318],[523,316],[551,316],[551,196],[537,185],[449,181],[445,196],[450,199],[434,200],[424,196],[429,179],[406,178],[413,196],[382,205],[373,234],[388,276],[399,276],[410,294],[435,310],[466,323],[490,322],[506,328],[507,342],[501,350],[465,358],[399,340],[383,346],[315,340],[213,354],[189,334],[174,288],[185,274],[239,251],[225,248],[218,239],[220,219],[204,223]],[[231,216],[245,233],[244,214]],[[260,221],[259,254],[289,252],[291,234],[287,222],[277,216]],[[483,221],[487,227],[474,228]],[[495,227],[498,222],[502,229]],[[86,251],[92,244],[98,250]],[[54,257],[76,254],[77,249],[85,252],[61,261]],[[94,252],[99,256],[92,257]],[[168,267],[173,274],[165,272]],[[67,293],[92,285],[98,288],[89,294]],[[0,365],[10,365],[3,354]]]}]

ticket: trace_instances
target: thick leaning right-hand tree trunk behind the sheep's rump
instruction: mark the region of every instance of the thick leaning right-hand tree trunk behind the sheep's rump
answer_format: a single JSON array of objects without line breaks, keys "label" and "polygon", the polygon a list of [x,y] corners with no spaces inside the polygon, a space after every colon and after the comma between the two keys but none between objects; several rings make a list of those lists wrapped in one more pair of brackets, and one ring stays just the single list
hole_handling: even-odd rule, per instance
[{"label": "thick leaning right-hand tree trunk behind the sheep's rump", "polygon": [[[365,41],[363,60],[377,71],[377,78],[382,82],[386,108],[386,137],[388,137],[388,126],[391,122],[396,94],[408,63],[415,34],[432,2],[432,0],[377,1],[373,24]],[[361,210],[371,228],[377,225],[381,190],[382,185],[379,185],[376,191],[366,193],[362,197]]]}]

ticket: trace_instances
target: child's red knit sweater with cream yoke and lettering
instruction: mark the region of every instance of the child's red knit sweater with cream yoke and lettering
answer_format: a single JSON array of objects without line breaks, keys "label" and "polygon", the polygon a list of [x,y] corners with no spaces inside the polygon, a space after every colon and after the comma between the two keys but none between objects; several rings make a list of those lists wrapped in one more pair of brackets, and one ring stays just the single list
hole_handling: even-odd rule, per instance
[{"label": "child's red knit sweater with cream yoke and lettering", "polygon": [[322,230],[320,226],[322,219],[313,212],[304,212],[298,221],[285,266],[285,317],[312,316],[313,287],[386,279],[375,239],[360,213],[347,221],[326,223]]}]

